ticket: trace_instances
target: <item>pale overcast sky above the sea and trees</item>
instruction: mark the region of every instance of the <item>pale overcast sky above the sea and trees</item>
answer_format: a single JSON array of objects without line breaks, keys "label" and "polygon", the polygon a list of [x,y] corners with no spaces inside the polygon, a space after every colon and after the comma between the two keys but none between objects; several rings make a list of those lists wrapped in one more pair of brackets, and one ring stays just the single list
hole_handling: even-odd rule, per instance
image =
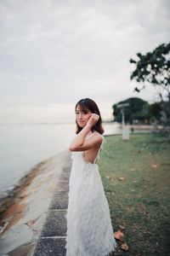
[{"label": "pale overcast sky above the sea and trees", "polygon": [[133,92],[137,52],[169,42],[167,0],[0,0],[0,123],[74,119],[89,97],[103,119]]}]

